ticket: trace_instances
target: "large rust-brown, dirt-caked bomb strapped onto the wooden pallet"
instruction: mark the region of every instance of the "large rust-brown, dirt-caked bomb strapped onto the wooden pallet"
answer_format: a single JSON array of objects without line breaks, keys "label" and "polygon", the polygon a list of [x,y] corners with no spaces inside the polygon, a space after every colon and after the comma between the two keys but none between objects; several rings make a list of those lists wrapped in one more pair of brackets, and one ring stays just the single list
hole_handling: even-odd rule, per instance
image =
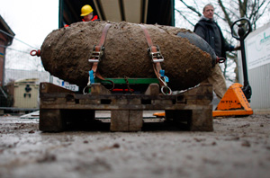
[{"label": "large rust-brown, dirt-caked bomb strapped onto the wooden pallet", "polygon": [[[76,22],[67,28],[49,33],[44,40],[40,57],[52,76],[85,87],[93,63],[88,58],[102,37],[108,22]],[[108,78],[155,78],[148,55],[148,42],[139,24],[110,22],[104,40],[103,58],[97,71]],[[192,31],[162,25],[143,24],[154,45],[158,45],[167,85],[183,90],[198,85],[211,75],[216,56],[211,47]]]}]

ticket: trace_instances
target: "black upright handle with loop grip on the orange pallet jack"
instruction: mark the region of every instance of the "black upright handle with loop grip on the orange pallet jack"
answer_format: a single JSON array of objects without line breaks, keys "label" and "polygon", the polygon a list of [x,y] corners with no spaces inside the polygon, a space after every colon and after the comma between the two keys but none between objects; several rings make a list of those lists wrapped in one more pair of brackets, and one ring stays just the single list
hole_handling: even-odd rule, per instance
[{"label": "black upright handle with loop grip on the orange pallet jack", "polygon": [[[235,25],[238,26],[238,36],[235,35],[235,32],[233,31]],[[246,50],[245,50],[244,40],[246,39],[249,32],[252,31],[251,24],[247,18],[241,18],[241,19],[238,19],[236,22],[233,22],[230,29],[231,29],[232,37],[240,41],[243,76],[244,76],[244,86],[242,87],[242,91],[245,94],[247,101],[250,102],[252,91],[251,91],[251,86],[248,83],[247,60],[246,60]]]}]

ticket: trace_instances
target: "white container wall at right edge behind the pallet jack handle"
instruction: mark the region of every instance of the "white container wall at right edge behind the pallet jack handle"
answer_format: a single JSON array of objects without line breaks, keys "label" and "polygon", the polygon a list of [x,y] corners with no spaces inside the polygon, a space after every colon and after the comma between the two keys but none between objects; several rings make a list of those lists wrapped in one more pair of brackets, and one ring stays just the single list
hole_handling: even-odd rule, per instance
[{"label": "white container wall at right edge behind the pallet jack handle", "polygon": [[[254,111],[270,111],[270,22],[247,36],[245,49],[247,76],[252,88],[250,106]],[[240,84],[243,85],[241,66],[239,60]]]}]

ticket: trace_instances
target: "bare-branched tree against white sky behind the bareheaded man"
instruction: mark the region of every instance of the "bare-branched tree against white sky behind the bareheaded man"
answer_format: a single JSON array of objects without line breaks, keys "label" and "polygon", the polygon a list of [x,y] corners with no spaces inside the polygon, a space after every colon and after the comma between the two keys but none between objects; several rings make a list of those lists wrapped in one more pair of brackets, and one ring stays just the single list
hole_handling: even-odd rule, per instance
[{"label": "bare-branched tree against white sky behind the bareheaded man", "polygon": [[[193,31],[193,26],[202,16],[203,6],[208,3],[209,0],[175,0],[175,15],[179,21],[176,26],[187,27]],[[213,0],[211,4],[215,7],[215,20],[219,22],[225,39],[233,45],[237,45],[238,41],[231,38],[230,26],[239,18],[249,19],[253,30],[270,21],[269,0]],[[227,57],[230,60],[224,64],[224,76],[231,82],[238,82],[237,52],[229,52]]]}]

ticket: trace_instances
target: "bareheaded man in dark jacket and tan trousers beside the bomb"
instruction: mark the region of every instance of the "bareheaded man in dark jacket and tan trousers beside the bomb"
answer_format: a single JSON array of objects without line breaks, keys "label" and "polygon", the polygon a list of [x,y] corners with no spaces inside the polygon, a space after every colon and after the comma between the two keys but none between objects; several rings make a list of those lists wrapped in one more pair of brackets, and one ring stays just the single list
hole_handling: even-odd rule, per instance
[{"label": "bareheaded man in dark jacket and tan trousers beside the bomb", "polygon": [[[226,58],[226,51],[233,50],[234,46],[229,45],[224,40],[220,26],[214,22],[213,5],[206,4],[203,7],[202,14],[203,15],[200,21],[197,22],[194,27],[194,32],[210,44],[211,48],[214,49],[216,56]],[[219,99],[221,99],[227,91],[225,77],[222,74],[219,64],[216,64],[216,66],[213,67],[211,76],[209,76],[206,81],[203,81],[202,83],[210,83],[213,86],[213,91],[216,93]]]}]

